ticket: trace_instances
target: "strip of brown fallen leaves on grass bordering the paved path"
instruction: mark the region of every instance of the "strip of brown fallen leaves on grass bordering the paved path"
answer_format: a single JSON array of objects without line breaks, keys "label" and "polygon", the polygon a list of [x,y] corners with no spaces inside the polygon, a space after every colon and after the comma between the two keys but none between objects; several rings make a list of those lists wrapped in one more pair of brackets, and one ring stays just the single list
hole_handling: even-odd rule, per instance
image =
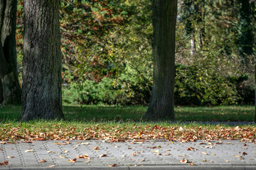
[{"label": "strip of brown fallen leaves on grass bordering the paved path", "polygon": [[6,124],[0,128],[0,140],[173,140],[193,142],[195,140],[250,140],[256,141],[256,127],[229,127],[221,125],[54,125],[31,126]]}]

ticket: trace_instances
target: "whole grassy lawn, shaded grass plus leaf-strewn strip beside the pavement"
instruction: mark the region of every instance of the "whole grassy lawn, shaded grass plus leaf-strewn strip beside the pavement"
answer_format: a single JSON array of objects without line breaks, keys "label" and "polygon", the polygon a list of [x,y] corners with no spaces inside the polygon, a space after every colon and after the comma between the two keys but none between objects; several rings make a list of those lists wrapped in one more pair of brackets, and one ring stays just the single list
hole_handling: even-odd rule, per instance
[{"label": "whole grassy lawn, shaded grass plus leaf-strewn strip beside the pavement", "polygon": [[[255,125],[228,127],[141,120],[146,107],[64,106],[65,120],[17,121],[21,106],[0,108],[0,140],[255,140]],[[180,121],[253,121],[253,106],[178,107]],[[139,121],[141,120],[141,121]],[[255,140],[256,142],[256,140]]]}]

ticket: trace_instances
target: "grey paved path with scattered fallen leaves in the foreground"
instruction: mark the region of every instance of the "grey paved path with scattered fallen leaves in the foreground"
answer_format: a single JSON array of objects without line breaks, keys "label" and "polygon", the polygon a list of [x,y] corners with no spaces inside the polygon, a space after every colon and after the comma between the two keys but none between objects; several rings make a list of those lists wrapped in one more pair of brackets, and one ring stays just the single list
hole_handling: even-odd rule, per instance
[{"label": "grey paved path with scattered fallen leaves in the foreground", "polygon": [[[78,155],[84,158],[77,158]],[[1,142],[0,163],[4,161],[8,164],[1,165],[0,170],[256,169],[256,144],[238,140],[223,140],[222,143],[98,140],[35,141],[15,144]]]}]

